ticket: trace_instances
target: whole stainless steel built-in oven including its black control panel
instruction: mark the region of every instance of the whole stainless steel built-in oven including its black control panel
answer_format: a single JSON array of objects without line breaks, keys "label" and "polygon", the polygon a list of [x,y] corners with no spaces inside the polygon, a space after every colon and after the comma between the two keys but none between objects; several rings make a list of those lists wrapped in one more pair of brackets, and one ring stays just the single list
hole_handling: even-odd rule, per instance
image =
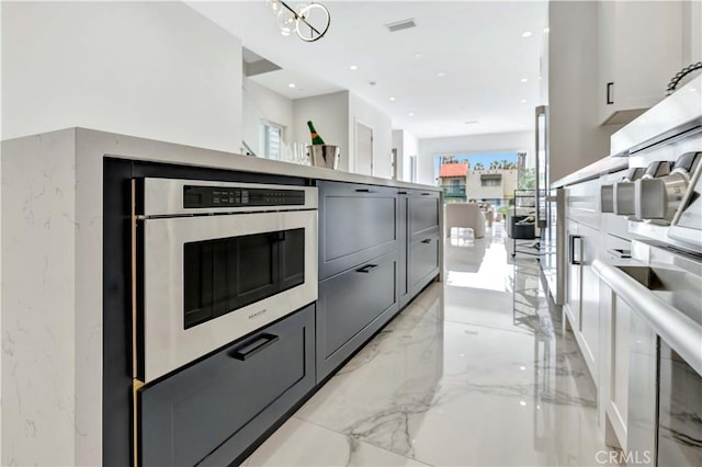
[{"label": "whole stainless steel built-in oven including its black control panel", "polygon": [[316,187],[150,178],[137,186],[144,383],[317,299]]}]

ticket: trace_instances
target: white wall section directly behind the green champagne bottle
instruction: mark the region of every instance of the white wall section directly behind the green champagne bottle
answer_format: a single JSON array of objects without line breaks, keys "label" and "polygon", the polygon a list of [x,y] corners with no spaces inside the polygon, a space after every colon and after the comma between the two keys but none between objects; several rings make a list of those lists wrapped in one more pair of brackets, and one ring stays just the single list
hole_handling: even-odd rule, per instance
[{"label": "white wall section directly behind the green champagne bottle", "polygon": [[293,101],[293,140],[312,143],[307,121],[328,145],[339,146],[339,170],[349,171],[349,92],[341,91]]}]

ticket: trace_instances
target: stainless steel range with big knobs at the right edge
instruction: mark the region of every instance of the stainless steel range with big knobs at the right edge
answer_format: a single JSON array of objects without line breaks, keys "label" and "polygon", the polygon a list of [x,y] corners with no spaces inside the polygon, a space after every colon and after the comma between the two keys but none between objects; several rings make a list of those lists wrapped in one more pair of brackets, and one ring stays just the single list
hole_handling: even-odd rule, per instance
[{"label": "stainless steel range with big knobs at the right edge", "polygon": [[[623,445],[630,455],[653,453],[650,464],[658,466],[701,465],[702,77],[615,133],[612,152],[627,156],[632,170],[647,168],[626,182],[620,213],[636,218],[629,221],[634,262],[595,264],[633,310],[638,331],[645,329],[637,334],[631,328]],[[616,213],[616,185],[613,196]],[[657,342],[650,356],[636,352],[637,335],[646,333]]]}]

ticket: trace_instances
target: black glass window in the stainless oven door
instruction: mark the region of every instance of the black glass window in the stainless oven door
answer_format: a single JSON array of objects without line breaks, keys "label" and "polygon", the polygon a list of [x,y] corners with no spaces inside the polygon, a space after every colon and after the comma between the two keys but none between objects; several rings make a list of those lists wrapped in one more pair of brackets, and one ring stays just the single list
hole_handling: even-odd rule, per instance
[{"label": "black glass window in the stainless oven door", "polygon": [[305,229],[183,246],[184,328],[305,282]]}]

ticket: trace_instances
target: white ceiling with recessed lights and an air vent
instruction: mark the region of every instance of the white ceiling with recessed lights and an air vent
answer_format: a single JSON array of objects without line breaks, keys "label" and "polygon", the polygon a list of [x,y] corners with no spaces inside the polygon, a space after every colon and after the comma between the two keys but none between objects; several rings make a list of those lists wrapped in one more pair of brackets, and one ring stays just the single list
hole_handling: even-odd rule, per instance
[{"label": "white ceiling with recessed lights and an air vent", "polygon": [[[331,24],[315,43],[282,36],[265,0],[188,3],[282,67],[251,79],[290,99],[348,89],[418,138],[533,127],[545,0],[319,2]],[[417,27],[384,26],[406,19]]]}]

